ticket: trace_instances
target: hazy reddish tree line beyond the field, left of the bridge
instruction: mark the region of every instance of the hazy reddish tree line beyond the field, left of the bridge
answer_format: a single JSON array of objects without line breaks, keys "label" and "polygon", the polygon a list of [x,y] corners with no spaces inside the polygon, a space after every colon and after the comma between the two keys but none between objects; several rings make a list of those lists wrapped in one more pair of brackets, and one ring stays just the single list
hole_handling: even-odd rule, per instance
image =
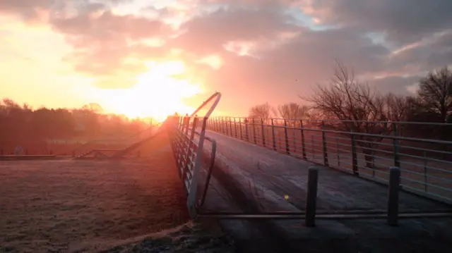
[{"label": "hazy reddish tree line beyond the field, left of the bridge", "polygon": [[129,121],[125,116],[106,114],[98,104],[79,109],[32,109],[11,99],[0,101],[0,149],[5,152],[18,145],[42,146],[49,140],[126,137],[148,127],[145,120]]}]

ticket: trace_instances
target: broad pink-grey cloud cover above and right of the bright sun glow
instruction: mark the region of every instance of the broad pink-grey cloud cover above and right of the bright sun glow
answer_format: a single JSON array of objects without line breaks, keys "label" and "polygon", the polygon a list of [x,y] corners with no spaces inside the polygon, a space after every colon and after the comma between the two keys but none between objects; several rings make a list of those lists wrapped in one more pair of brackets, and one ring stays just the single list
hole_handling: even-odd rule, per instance
[{"label": "broad pink-grey cloud cover above and right of the bright sun glow", "polygon": [[[336,59],[382,91],[405,94],[423,73],[452,63],[449,0],[59,3],[0,1],[0,12],[30,19],[47,10],[41,22],[73,47],[66,60],[99,87],[129,87],[145,61],[179,58],[184,78],[234,97],[222,109],[242,113],[260,102],[297,101],[328,81]],[[145,7],[118,11],[124,3]]]}]

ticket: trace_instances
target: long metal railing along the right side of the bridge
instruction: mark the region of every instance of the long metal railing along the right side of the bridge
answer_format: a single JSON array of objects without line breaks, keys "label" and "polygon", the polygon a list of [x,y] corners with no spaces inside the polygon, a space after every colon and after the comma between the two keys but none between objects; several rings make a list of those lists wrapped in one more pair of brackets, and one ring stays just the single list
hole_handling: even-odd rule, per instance
[{"label": "long metal railing along the right side of the bridge", "polygon": [[452,203],[452,124],[209,118],[207,129],[388,184],[400,168],[403,190]]}]

